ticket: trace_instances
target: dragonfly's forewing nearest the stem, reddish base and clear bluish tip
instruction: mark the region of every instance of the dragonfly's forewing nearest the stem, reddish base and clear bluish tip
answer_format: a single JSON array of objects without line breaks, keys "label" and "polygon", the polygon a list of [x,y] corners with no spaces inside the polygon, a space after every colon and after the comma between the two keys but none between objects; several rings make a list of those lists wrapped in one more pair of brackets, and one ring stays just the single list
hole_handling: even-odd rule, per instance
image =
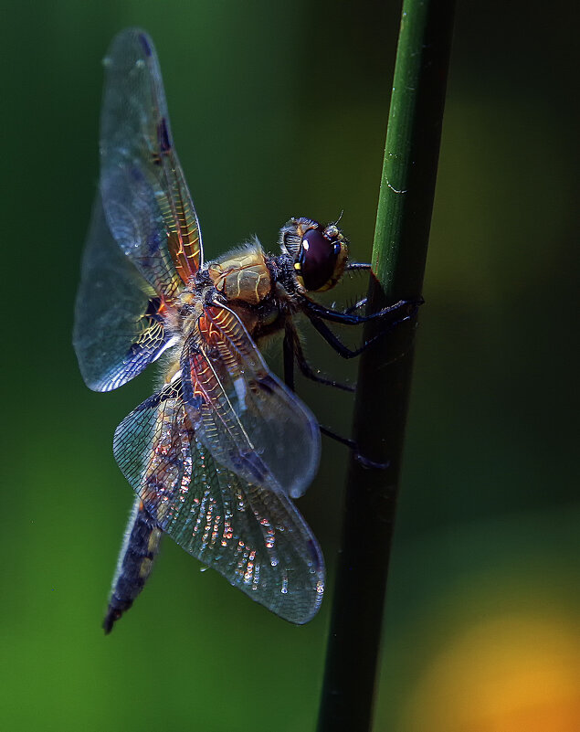
[{"label": "dragonfly's forewing nearest the stem, reddish base and clear bluish tip", "polygon": [[189,419],[215,460],[248,483],[301,496],[318,470],[318,423],[269,372],[237,314],[206,306],[181,368]]}]

